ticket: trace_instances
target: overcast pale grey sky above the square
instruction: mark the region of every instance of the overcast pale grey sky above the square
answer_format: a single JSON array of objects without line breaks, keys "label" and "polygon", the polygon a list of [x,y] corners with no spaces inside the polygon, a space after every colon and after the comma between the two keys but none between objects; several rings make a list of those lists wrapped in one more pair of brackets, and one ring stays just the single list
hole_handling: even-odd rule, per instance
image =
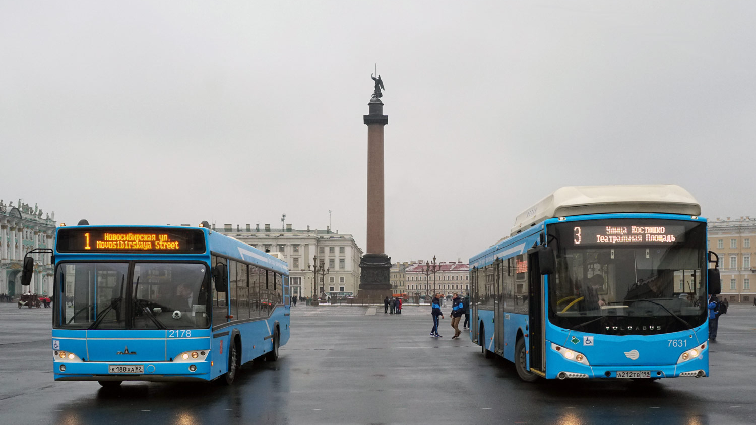
[{"label": "overcast pale grey sky above the square", "polygon": [[754,2],[0,1],[0,198],[59,222],[354,234],[469,259],[563,185],[756,216]]}]

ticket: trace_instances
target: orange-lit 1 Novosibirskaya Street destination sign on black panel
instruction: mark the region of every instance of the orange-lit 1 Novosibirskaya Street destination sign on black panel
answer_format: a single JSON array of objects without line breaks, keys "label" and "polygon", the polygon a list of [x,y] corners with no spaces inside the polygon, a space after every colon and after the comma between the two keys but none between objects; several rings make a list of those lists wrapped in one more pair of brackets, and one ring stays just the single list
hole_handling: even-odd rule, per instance
[{"label": "orange-lit 1 Novosibirskaya Street destination sign on black panel", "polygon": [[204,253],[200,230],[172,228],[61,228],[59,253]]}]

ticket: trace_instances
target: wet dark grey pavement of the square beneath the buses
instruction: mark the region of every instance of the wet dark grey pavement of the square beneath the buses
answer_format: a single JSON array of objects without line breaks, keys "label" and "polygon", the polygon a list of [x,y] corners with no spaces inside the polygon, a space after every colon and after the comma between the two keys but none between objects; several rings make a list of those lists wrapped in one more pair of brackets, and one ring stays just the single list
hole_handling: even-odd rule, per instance
[{"label": "wet dark grey pavement of the square beneath the buses", "polygon": [[51,309],[0,304],[0,423],[756,423],[756,307],[730,306],[711,346],[711,377],[650,383],[522,383],[469,338],[429,337],[428,307],[292,309],[277,362],[215,383],[54,382]]}]

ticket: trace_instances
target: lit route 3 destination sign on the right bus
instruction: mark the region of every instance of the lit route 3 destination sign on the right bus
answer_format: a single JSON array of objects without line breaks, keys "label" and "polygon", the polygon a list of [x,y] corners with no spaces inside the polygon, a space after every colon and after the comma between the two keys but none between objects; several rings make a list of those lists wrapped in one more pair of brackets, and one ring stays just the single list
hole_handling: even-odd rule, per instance
[{"label": "lit route 3 destination sign on the right bus", "polygon": [[609,225],[575,226],[575,245],[671,245],[683,242],[685,226],[680,225]]}]

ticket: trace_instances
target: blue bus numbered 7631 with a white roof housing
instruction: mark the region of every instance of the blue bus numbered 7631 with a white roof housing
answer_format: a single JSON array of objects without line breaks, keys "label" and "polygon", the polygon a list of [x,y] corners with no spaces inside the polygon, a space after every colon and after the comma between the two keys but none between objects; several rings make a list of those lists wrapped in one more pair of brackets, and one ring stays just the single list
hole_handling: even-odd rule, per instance
[{"label": "blue bus numbered 7631 with a white roof housing", "polygon": [[559,188],[470,259],[472,342],[528,382],[708,377],[700,213],[677,185]]}]

